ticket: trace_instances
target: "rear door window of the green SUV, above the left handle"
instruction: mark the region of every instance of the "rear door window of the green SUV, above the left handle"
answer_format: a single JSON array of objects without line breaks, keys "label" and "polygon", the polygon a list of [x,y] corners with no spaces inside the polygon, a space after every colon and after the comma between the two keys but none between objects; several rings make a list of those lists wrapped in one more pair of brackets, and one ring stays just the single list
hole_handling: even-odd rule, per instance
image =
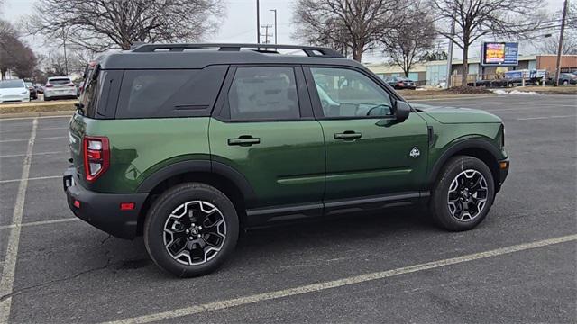
[{"label": "rear door window of the green SUV, above the left handle", "polygon": [[300,117],[292,67],[238,67],[226,112],[234,121],[293,120]]}]

